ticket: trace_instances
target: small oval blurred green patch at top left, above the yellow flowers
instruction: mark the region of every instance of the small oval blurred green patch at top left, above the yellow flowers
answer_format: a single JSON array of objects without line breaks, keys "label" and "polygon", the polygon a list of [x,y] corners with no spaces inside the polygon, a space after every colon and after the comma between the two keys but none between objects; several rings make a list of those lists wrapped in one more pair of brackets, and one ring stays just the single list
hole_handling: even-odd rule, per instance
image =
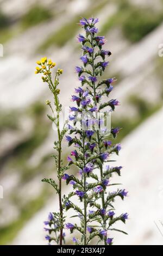
[{"label": "small oval blurred green patch at top left, above the yellow flowers", "polygon": [[41,5],[33,5],[29,11],[22,17],[22,25],[24,28],[35,26],[43,21],[52,18],[52,13]]}]

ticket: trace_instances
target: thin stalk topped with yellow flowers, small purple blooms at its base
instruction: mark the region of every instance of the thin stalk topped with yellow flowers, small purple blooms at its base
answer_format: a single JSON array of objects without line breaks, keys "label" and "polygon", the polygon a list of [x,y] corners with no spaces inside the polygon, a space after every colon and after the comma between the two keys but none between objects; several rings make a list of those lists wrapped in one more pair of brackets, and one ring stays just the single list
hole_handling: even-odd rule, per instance
[{"label": "thin stalk topped with yellow flowers, small purple blooms at its base", "polygon": [[[42,181],[47,182],[48,184],[51,184],[55,191],[58,193],[58,199],[59,199],[59,212],[50,213],[48,216],[48,221],[45,221],[46,228],[45,230],[48,231],[49,235],[46,236],[46,239],[49,241],[49,243],[54,240],[57,242],[57,244],[62,245],[62,241],[65,241],[64,234],[63,234],[63,228],[64,228],[64,221],[65,217],[63,214],[63,208],[62,208],[62,194],[61,194],[61,180],[62,176],[65,173],[65,170],[68,169],[67,166],[64,166],[61,159],[61,153],[62,153],[62,139],[65,136],[65,133],[67,129],[64,127],[62,130],[60,130],[60,112],[62,110],[62,105],[59,102],[59,94],[60,89],[59,87],[59,76],[62,74],[62,69],[58,69],[55,72],[54,82],[52,78],[52,69],[55,67],[55,63],[52,62],[51,59],[47,60],[46,57],[42,58],[40,61],[36,62],[39,66],[36,67],[35,74],[43,74],[42,81],[48,84],[49,89],[51,90],[53,94],[53,100],[54,100],[54,108],[49,100],[46,101],[46,105],[49,106],[49,108],[52,111],[52,115],[47,115],[49,120],[51,120],[55,127],[57,128],[57,135],[58,135],[58,141],[54,142],[54,149],[56,154],[53,155],[55,167],[57,169],[57,177],[58,182],[55,182],[53,179],[43,179]],[[48,228],[47,228],[48,225]],[[55,234],[52,236],[52,232]]]}]

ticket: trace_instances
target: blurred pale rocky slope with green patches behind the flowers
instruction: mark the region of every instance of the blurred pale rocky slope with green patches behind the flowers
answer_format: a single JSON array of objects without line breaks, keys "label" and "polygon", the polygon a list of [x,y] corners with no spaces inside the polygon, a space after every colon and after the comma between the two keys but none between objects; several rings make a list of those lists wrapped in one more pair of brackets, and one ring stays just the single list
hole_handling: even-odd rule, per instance
[{"label": "blurred pale rocky slope with green patches behind the flowers", "polygon": [[[74,66],[80,63],[76,36],[82,16],[99,17],[105,48],[112,52],[105,77],[118,80],[112,97],[121,106],[111,124],[123,127],[117,164],[124,168],[117,179],[129,197],[117,202],[117,210],[130,218],[118,226],[129,235],[116,235],[115,244],[163,243],[163,1],[0,0],[1,245],[46,244],[43,221],[58,204],[41,179],[56,175],[49,156],[55,132],[44,103],[51,95],[34,74],[35,62],[47,56],[64,69],[61,101],[68,106],[79,84]],[[65,159],[68,151],[65,143]]]}]

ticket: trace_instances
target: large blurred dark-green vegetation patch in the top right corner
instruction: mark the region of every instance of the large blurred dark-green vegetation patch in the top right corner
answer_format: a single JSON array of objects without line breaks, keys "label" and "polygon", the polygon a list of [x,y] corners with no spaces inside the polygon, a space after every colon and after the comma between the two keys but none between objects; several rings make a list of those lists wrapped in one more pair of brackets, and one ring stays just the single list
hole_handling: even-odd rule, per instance
[{"label": "large blurred dark-green vegetation patch in the top right corner", "polygon": [[163,9],[156,11],[152,8],[139,8],[127,0],[117,3],[117,13],[106,19],[101,34],[106,34],[113,27],[121,27],[124,36],[130,42],[137,42],[152,32],[163,20]]}]

